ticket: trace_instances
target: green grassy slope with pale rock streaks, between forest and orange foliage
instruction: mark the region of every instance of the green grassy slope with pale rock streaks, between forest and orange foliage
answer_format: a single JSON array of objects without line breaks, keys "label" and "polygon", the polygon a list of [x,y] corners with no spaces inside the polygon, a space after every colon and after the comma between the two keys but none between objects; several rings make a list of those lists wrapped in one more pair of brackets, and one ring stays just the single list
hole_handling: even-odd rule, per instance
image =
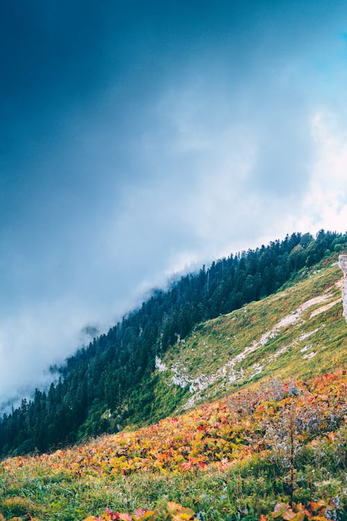
[{"label": "green grassy slope with pale rock streaks, between forest and orange foliage", "polygon": [[[198,325],[163,357],[167,370],[153,375],[154,417],[155,411],[158,419],[180,413],[273,375],[303,379],[345,366],[347,325],[342,318],[341,282],[335,255],[302,271],[291,287]],[[296,321],[276,329],[285,317],[294,319],[292,313],[310,300]],[[262,345],[260,339],[270,332]]]}]

